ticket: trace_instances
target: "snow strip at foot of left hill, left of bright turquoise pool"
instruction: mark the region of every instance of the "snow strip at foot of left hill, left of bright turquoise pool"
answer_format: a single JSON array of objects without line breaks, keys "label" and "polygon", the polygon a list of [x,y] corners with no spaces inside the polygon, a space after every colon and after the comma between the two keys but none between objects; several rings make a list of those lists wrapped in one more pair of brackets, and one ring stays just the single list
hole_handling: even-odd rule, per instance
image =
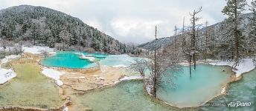
[{"label": "snow strip at foot of left hill, left of bright turquoise pool", "polygon": [[49,53],[54,52],[54,48],[50,47],[41,47],[41,46],[32,46],[32,47],[22,47],[24,53],[40,54],[42,50],[46,50]]}]

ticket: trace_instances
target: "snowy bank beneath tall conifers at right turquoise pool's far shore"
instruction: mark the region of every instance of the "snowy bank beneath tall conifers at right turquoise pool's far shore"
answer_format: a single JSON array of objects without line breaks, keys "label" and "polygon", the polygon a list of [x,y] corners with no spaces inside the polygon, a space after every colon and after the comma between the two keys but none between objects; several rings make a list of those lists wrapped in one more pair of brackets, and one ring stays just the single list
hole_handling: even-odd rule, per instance
[{"label": "snowy bank beneath tall conifers at right turquoise pool's far shore", "polygon": [[[226,65],[232,67],[234,64],[234,61],[217,61],[217,62],[210,62],[211,65]],[[240,60],[240,63],[237,64],[236,67],[237,70],[233,70],[236,73],[236,76],[239,77],[243,73],[249,72],[251,70],[255,69],[255,64],[253,63],[253,60],[251,58],[244,58]]]}]

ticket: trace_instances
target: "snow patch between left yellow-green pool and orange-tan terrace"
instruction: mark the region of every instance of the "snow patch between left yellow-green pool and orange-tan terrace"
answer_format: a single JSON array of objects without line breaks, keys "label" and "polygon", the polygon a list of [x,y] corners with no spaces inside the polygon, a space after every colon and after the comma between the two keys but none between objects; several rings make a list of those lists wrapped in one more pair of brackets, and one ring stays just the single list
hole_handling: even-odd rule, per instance
[{"label": "snow patch between left yellow-green pool and orange-tan terrace", "polygon": [[63,85],[63,81],[60,81],[60,75],[63,75],[64,72],[60,72],[58,70],[43,67],[42,68],[42,74],[45,75],[45,76],[48,76],[49,78],[53,78],[55,80],[55,83],[58,86],[61,87]]}]

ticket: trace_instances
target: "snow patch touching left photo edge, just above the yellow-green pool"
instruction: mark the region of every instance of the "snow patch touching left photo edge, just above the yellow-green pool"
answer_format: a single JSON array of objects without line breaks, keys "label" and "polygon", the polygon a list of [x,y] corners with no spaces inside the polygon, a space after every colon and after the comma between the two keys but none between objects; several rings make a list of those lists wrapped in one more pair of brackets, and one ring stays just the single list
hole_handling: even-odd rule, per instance
[{"label": "snow patch touching left photo edge, just above the yellow-green pool", "polygon": [[4,84],[12,78],[16,77],[16,73],[12,69],[6,70],[0,68],[0,84]]}]

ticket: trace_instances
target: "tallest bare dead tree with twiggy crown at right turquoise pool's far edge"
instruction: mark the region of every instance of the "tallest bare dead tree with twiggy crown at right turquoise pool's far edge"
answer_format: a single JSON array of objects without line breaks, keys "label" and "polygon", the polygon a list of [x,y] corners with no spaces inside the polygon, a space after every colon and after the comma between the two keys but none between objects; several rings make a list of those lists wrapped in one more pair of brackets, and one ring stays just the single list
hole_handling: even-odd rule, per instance
[{"label": "tallest bare dead tree with twiggy crown at right turquoise pool's far edge", "polygon": [[199,21],[199,17],[196,16],[196,14],[200,13],[202,11],[202,7],[200,7],[198,10],[193,10],[193,13],[190,13],[191,15],[191,24],[192,24],[192,30],[191,30],[191,53],[193,53],[193,70],[196,70],[196,21]]}]

